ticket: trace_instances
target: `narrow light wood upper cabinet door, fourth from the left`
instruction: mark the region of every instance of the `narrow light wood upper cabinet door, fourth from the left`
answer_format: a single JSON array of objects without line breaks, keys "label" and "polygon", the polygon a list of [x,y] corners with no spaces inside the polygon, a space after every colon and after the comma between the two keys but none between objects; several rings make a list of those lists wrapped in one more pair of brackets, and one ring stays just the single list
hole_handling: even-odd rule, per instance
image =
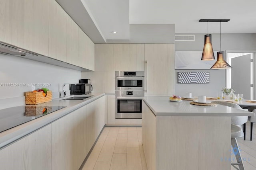
[{"label": "narrow light wood upper cabinet door, fourth from the left", "polygon": [[67,63],[78,65],[78,25],[67,15]]}]

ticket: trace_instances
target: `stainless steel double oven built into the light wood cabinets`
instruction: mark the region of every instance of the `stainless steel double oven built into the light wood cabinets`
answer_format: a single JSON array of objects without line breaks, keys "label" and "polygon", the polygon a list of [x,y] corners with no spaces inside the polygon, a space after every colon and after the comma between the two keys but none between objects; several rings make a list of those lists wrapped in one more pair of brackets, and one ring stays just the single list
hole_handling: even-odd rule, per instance
[{"label": "stainless steel double oven built into the light wood cabinets", "polygon": [[116,71],[116,119],[141,119],[144,71]]}]

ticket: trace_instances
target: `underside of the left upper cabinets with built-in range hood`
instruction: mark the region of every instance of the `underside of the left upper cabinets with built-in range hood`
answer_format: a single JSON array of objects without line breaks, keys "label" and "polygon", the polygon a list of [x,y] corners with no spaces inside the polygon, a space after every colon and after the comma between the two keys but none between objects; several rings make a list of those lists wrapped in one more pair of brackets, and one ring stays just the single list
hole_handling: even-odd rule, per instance
[{"label": "underside of the left upper cabinets with built-in range hood", "polygon": [[79,71],[91,71],[86,68],[82,68],[79,66],[75,66],[73,64],[65,63],[63,61],[59,61],[44,55],[40,55],[38,53],[34,53],[32,51],[28,51],[19,47],[16,47],[14,45],[10,45],[8,43],[4,43],[0,41],[0,53],[4,55],[13,55],[17,57],[22,57],[25,59],[30,59],[34,61],[40,61],[42,63],[47,63],[47,64],[52,64],[56,66],[61,66],[65,68],[71,68],[74,70],[79,70]]}]

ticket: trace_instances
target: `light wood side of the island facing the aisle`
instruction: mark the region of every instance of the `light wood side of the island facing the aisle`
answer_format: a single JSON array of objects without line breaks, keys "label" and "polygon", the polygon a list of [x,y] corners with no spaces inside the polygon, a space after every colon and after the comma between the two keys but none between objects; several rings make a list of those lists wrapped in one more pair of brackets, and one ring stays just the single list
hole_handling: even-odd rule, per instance
[{"label": "light wood side of the island facing the aisle", "polygon": [[148,170],[156,170],[156,116],[142,102],[142,144]]}]

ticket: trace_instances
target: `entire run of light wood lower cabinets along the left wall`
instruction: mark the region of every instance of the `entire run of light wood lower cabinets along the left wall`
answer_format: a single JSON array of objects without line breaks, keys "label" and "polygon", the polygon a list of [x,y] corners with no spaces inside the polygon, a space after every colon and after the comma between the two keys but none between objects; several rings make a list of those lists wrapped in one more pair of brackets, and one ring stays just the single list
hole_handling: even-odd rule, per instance
[{"label": "entire run of light wood lower cabinets along the left wall", "polygon": [[78,170],[105,125],[106,98],[0,150],[0,170]]}]

